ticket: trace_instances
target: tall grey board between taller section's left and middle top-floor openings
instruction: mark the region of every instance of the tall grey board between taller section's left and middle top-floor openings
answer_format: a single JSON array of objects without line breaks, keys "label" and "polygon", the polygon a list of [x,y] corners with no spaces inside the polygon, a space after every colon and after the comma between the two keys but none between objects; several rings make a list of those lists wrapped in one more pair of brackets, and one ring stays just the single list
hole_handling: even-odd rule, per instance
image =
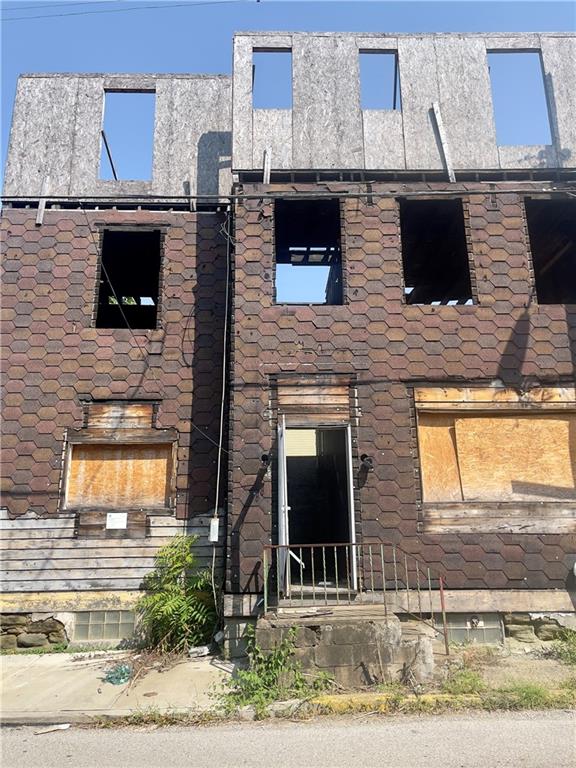
[{"label": "tall grey board between taller section's left and middle top-floor openings", "polygon": [[362,167],[358,69],[358,48],[353,36],[294,37],[295,168]]}]

